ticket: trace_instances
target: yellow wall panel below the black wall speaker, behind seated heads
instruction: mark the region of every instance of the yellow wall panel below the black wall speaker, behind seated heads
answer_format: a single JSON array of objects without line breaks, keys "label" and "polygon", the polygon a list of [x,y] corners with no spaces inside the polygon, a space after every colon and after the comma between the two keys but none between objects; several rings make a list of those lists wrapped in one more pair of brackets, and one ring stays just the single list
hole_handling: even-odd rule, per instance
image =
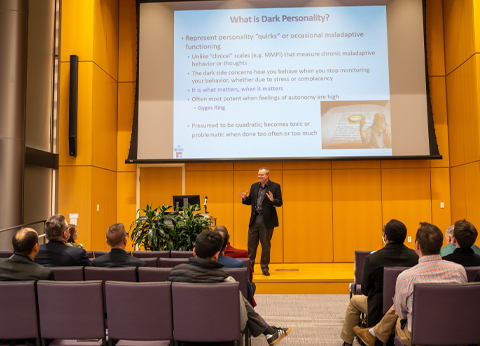
[{"label": "yellow wall panel below the black wall speaker, behind seated heads", "polygon": [[58,170],[58,213],[69,222],[69,214],[78,214],[77,242],[92,249],[92,167],[60,166]]}]

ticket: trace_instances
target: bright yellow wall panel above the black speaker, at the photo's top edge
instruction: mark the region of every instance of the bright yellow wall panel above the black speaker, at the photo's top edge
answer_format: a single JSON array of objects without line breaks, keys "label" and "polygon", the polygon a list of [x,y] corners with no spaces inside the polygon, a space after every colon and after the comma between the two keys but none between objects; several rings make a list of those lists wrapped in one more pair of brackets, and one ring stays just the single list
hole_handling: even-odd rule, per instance
[{"label": "bright yellow wall panel above the black speaker, at the photo's top edge", "polygon": [[[62,35],[60,60],[93,60],[93,13],[96,0],[62,1]],[[81,78],[79,78],[81,81]],[[68,93],[67,93],[68,96]]]}]

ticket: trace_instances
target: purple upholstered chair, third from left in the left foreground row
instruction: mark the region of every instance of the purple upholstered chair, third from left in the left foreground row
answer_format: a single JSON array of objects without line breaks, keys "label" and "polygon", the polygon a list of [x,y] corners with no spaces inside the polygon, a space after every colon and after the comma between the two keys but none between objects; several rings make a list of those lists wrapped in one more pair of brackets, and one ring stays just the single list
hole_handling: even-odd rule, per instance
[{"label": "purple upholstered chair, third from left in the left foreground row", "polygon": [[173,328],[169,282],[107,282],[105,291],[110,345],[113,340],[120,340],[117,346],[170,345]]}]

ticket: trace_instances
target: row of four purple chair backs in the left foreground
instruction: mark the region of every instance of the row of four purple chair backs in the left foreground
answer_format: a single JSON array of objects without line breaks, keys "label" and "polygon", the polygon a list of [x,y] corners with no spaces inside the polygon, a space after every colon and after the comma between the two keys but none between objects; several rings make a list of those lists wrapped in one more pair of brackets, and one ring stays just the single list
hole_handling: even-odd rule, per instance
[{"label": "row of four purple chair backs in the left foreground", "polygon": [[54,339],[50,345],[65,346],[118,340],[118,346],[172,340],[240,345],[238,290],[238,283],[107,281],[103,288],[101,281],[0,282],[0,339]]}]

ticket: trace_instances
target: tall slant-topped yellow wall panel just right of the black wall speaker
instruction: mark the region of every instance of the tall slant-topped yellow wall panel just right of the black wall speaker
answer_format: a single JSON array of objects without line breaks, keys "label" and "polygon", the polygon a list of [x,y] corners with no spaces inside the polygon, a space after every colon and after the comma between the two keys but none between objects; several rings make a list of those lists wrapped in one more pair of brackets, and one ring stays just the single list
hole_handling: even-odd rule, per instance
[{"label": "tall slant-topped yellow wall panel just right of the black wall speaker", "polygon": [[93,67],[93,165],[117,169],[117,82]]}]

